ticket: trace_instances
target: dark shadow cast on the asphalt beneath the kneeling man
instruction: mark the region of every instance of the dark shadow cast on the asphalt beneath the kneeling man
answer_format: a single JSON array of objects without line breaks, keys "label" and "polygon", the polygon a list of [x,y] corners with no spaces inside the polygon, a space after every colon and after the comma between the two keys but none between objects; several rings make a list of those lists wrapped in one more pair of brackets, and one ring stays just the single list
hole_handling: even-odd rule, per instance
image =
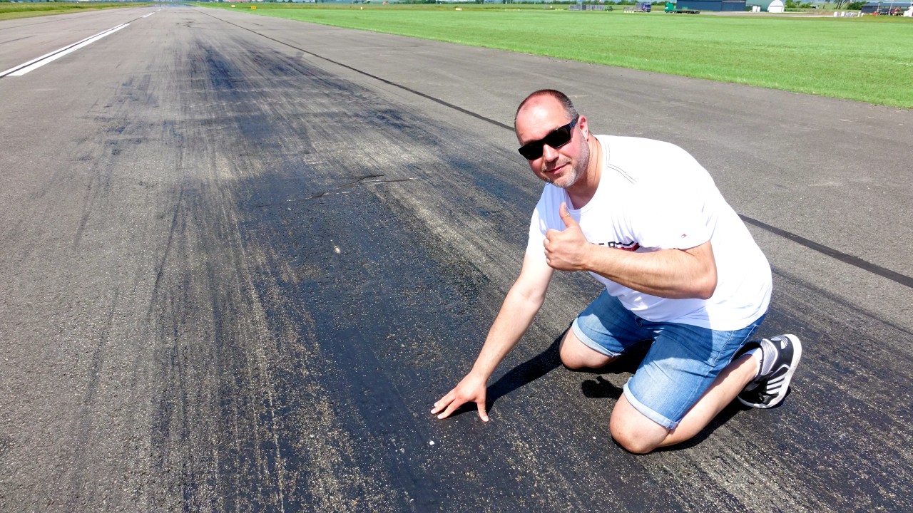
[{"label": "dark shadow cast on the asphalt beneath the kneeling man", "polygon": [[[497,382],[492,383],[488,387],[488,393],[486,395],[486,411],[490,412],[494,403],[496,403],[501,397],[517,390],[521,386],[529,384],[530,382],[534,382],[549,372],[552,372],[558,367],[561,367],[561,356],[559,354],[559,350],[561,346],[561,339],[563,337],[564,333],[561,333],[557,339],[551,342],[551,345],[545,351],[540,352],[540,354],[530,358],[528,361],[520,363],[518,366],[514,367],[509,372],[498,378]],[[585,397],[590,399],[614,399],[617,401],[622,396],[622,393],[624,393],[624,390],[603,378],[602,374],[634,374],[634,372],[637,371],[637,367],[640,366],[641,361],[644,360],[646,351],[650,349],[650,342],[651,340],[645,340],[638,343],[628,353],[624,354],[624,356],[609,363],[608,365],[605,365],[604,367],[598,369],[581,369],[569,372],[595,374],[593,379],[584,380],[581,382],[581,392]],[[732,403],[729,403],[729,405],[727,405],[725,408],[723,408],[723,410],[712,421],[710,421],[710,423],[707,424],[707,426],[704,427],[700,433],[694,435],[691,439],[671,447],[662,447],[656,449],[654,452],[677,451],[698,445],[706,440],[710,434],[713,434],[713,432],[716,431],[719,426],[726,424],[729,419],[734,417],[736,414],[748,410],[750,410],[748,406],[744,406],[738,401],[733,401]],[[467,403],[458,408],[454,412],[453,416],[475,411],[476,404]]]}]

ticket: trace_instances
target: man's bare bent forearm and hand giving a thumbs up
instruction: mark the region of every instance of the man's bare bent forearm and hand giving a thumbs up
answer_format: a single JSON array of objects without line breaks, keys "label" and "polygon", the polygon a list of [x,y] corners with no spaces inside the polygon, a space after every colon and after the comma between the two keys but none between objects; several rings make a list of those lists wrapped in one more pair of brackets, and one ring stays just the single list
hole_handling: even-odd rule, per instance
[{"label": "man's bare bent forearm and hand giving a thumbs up", "polygon": [[660,298],[707,299],[717,288],[717,263],[709,241],[689,249],[634,253],[587,242],[563,204],[561,218],[566,228],[549,230],[544,243],[546,261],[553,268],[592,271]]}]

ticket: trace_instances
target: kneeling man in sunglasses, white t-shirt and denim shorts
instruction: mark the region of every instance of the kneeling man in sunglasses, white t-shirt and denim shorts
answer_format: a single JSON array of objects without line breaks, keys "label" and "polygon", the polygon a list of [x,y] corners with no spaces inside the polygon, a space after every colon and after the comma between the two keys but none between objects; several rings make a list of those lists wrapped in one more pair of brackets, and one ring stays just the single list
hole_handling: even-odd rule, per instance
[{"label": "kneeling man in sunglasses, white t-shirt and denim shorts", "polygon": [[673,144],[593,135],[556,90],[524,99],[514,126],[520,154],[547,182],[526,257],[472,370],[431,413],[473,402],[488,421],[488,378],[530,327],[554,269],[605,285],[561,340],[565,366],[602,367],[652,340],[609,423],[627,450],[681,443],[737,397],[780,403],[802,345],[794,335],[751,340],[771,268],[707,171]]}]

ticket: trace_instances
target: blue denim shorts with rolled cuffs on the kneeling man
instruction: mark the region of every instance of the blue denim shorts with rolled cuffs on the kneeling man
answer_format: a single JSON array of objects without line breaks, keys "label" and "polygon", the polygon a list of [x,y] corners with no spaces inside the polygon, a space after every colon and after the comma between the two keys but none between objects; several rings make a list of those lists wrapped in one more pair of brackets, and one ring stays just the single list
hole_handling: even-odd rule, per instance
[{"label": "blue denim shorts with rolled cuffs on the kneeling man", "polygon": [[572,330],[587,347],[613,357],[637,342],[653,340],[634,376],[624,383],[624,396],[656,424],[675,429],[764,317],[735,331],[651,322],[603,291],[574,319]]}]

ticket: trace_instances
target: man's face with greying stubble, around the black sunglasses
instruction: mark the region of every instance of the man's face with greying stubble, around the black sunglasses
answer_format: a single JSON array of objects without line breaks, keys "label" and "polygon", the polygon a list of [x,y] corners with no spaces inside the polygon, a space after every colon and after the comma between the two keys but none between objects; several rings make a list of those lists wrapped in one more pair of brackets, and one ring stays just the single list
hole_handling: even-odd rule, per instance
[{"label": "man's face with greying stubble, around the black sunglasses", "polygon": [[[517,139],[520,145],[540,141],[551,131],[568,124],[567,114],[557,99],[532,99],[517,115]],[[560,148],[542,145],[542,155],[530,160],[530,169],[540,179],[566,189],[586,173],[590,163],[590,146],[586,141],[586,118],[581,116],[571,129],[571,141]]]}]

